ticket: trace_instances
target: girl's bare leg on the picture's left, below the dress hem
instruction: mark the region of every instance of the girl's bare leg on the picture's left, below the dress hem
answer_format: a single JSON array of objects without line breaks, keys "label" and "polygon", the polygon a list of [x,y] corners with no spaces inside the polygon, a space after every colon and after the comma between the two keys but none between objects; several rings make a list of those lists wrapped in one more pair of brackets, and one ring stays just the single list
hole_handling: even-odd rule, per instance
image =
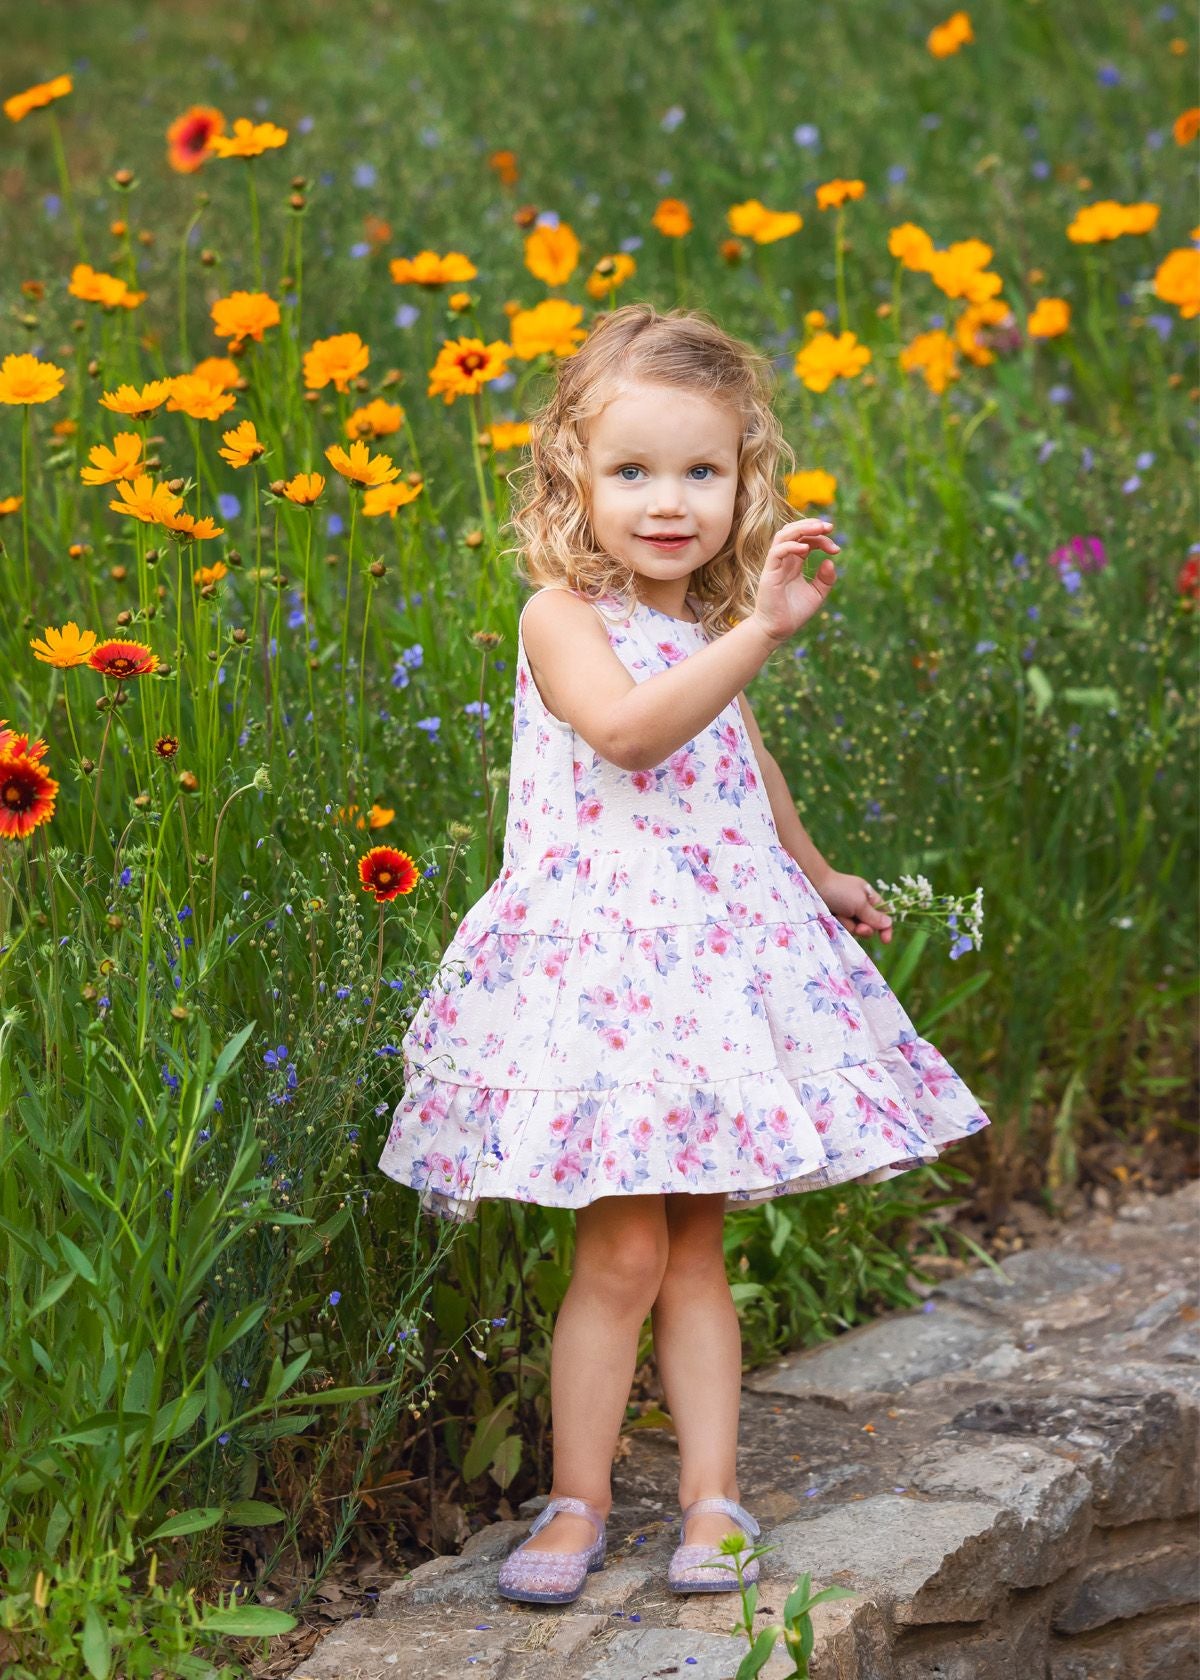
[{"label": "girl's bare leg on the picture's left, below the dress hem", "polygon": [[[575,1267],[558,1309],[550,1366],[555,1425],[551,1499],[612,1509],[612,1457],[625,1416],[637,1339],[667,1260],[662,1196],[602,1196],[575,1216]],[[595,1541],[587,1517],[560,1512],[528,1551],[573,1552]]]}]

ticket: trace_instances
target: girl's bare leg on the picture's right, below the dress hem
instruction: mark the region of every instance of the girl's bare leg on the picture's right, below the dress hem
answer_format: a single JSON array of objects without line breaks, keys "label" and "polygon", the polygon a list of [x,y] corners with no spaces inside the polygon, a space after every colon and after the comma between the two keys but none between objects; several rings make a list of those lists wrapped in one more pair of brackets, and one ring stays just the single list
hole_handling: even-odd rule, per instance
[{"label": "girl's bare leg on the picture's right, below the dress hem", "polygon": [[[654,1352],[679,1440],[679,1504],[738,1499],[741,1326],[724,1273],[724,1196],[666,1198],[667,1267],[654,1304]],[[734,1524],[703,1512],[689,1546],[716,1546]]]}]

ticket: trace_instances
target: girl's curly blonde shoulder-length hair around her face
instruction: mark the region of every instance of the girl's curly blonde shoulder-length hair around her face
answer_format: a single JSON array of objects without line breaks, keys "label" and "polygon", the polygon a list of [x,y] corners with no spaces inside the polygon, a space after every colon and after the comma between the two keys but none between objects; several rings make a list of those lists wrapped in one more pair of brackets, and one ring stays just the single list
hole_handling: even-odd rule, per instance
[{"label": "girl's curly blonde shoulder-length hair around her face", "polygon": [[519,548],[516,573],[545,588],[637,601],[634,573],[597,543],[585,427],[630,381],[674,385],[733,408],[741,418],[738,492],[721,551],[691,578],[708,635],[721,635],[755,606],[758,576],[780,524],[795,509],[778,489],[780,465],[795,455],[771,410],[770,360],[731,338],[699,309],[625,304],[605,314],[573,356],[556,366],[550,400],[529,422],[529,459],[508,474],[509,524]]}]

